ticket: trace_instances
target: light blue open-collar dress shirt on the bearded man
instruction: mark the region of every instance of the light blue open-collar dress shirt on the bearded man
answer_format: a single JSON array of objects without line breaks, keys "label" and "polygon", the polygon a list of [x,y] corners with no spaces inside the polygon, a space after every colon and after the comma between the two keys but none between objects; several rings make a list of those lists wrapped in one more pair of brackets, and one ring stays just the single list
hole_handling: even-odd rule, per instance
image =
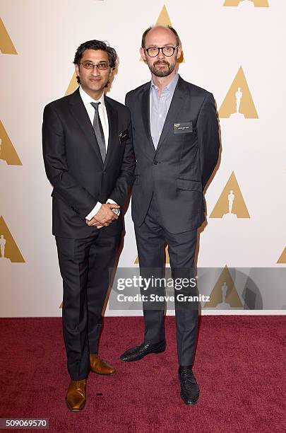
[{"label": "light blue open-collar dress shirt on the bearded man", "polygon": [[158,94],[158,88],[151,80],[150,87],[150,131],[155,149],[160,140],[160,135],[165,124],[165,120],[169,111],[174,90],[177,86],[179,74],[174,76],[174,79],[162,89],[161,96]]}]

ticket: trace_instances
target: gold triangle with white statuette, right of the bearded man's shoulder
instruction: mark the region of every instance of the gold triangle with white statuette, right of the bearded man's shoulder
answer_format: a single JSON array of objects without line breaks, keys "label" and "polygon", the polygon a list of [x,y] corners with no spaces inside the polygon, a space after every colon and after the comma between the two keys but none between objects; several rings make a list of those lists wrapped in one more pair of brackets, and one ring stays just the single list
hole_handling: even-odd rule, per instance
[{"label": "gold triangle with white statuette, right of the bearded man's shoulder", "polygon": [[230,117],[231,115],[244,115],[246,119],[258,119],[242,67],[239,68],[218,114],[221,118]]}]

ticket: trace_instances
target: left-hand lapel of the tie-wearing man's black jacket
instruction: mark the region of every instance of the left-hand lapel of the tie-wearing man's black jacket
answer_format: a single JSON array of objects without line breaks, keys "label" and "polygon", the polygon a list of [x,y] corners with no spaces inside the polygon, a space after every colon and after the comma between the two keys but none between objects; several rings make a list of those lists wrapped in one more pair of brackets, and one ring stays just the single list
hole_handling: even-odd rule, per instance
[{"label": "left-hand lapel of the tie-wearing man's black jacket", "polygon": [[78,126],[83,131],[83,134],[85,135],[86,139],[88,139],[88,142],[90,142],[90,145],[93,147],[97,157],[102,163],[102,157],[100,155],[100,148],[95,137],[95,131],[93,129],[93,125],[91,125],[88,112],[85,110],[85,106],[78,89],[70,96],[69,102],[71,105],[71,114],[75,118],[76,122],[78,122]]}]

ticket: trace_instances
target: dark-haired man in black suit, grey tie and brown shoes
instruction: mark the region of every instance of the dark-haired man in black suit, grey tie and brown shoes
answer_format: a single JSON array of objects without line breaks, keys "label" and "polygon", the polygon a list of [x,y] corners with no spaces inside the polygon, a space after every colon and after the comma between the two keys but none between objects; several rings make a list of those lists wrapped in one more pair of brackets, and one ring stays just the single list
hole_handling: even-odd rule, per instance
[{"label": "dark-haired man in black suit, grey tie and brown shoes", "polygon": [[117,61],[112,47],[84,42],[74,58],[80,87],[44,108],[42,142],[52,192],[52,224],[63,278],[66,404],[82,410],[89,371],[114,374],[98,356],[102,307],[121,242],[120,208],[135,159],[128,108],[104,89]]}]

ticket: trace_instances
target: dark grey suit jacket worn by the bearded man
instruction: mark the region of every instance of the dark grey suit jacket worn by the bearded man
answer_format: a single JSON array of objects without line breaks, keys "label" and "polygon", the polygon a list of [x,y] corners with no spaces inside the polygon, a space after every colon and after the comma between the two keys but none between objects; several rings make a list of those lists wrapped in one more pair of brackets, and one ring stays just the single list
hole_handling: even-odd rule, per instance
[{"label": "dark grey suit jacket worn by the bearded man", "polygon": [[[131,111],[136,180],[132,217],[141,226],[153,191],[169,233],[196,229],[205,219],[203,189],[218,161],[218,117],[213,95],[179,76],[157,150],[150,134],[150,82],[127,93]],[[192,122],[175,134],[174,124]]]}]

